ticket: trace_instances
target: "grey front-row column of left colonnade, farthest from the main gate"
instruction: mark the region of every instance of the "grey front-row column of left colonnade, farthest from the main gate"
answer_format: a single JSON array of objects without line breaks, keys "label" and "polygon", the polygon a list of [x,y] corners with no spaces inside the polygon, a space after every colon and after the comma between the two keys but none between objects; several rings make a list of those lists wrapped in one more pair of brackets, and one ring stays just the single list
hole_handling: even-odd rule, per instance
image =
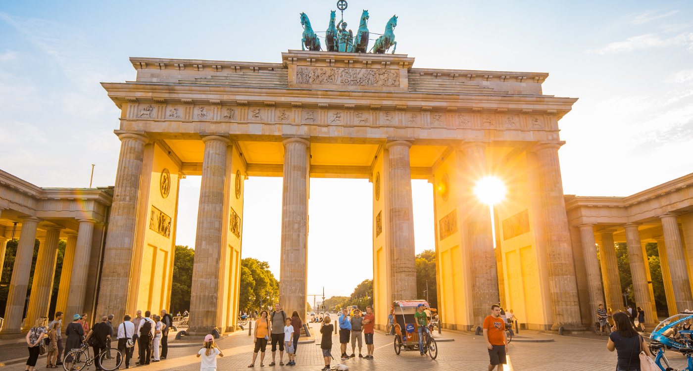
[{"label": "grey front-row column of left colonnade, farthest from the main gate", "polygon": [[36,228],[39,219],[28,217],[21,219],[21,235],[17,244],[15,265],[12,266],[12,280],[8,290],[7,306],[5,307],[5,320],[0,335],[21,334],[21,320],[24,314],[24,302],[26,302],[26,289],[29,284],[31,260],[34,255],[36,243]]}]

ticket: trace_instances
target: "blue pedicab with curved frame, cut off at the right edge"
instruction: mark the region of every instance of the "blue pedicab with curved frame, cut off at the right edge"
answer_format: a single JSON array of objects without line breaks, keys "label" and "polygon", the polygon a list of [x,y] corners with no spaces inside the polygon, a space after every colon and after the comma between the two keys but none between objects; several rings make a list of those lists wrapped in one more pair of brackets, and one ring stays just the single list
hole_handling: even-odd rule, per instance
[{"label": "blue pedicab with curved frame, cut off at the right edge", "polygon": [[[686,368],[678,371],[693,371],[693,312],[683,311],[671,316],[657,325],[651,334],[649,350],[655,357],[654,363],[662,371],[676,370],[669,365],[664,350],[673,350],[686,356]],[[666,366],[662,365],[664,361]]]}]

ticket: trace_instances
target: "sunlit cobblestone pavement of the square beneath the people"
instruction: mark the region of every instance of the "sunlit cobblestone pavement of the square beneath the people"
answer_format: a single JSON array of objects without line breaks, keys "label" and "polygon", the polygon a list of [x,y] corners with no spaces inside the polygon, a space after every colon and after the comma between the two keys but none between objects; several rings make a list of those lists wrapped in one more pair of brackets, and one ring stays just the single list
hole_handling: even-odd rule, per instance
[{"label": "sunlit cobblestone pavement of the square beneath the people", "polygon": [[[316,326],[317,328],[317,326]],[[315,330],[312,330],[315,334]],[[606,350],[606,341],[593,340],[588,338],[578,338],[572,336],[558,336],[550,334],[528,334],[523,336],[541,339],[553,338],[552,343],[518,343],[512,342],[509,345],[508,365],[505,370],[590,370],[590,371],[613,371],[616,365],[615,352]],[[319,333],[318,333],[319,336]],[[489,364],[488,353],[484,346],[482,336],[471,336],[467,334],[457,334],[443,332],[442,336],[454,338],[453,342],[438,343],[438,357],[435,360],[428,356],[419,356],[419,352],[401,352],[396,355],[392,345],[392,337],[385,336],[383,333],[376,332],[374,336],[375,352],[373,360],[360,359],[357,357],[344,361],[351,370],[486,370]],[[265,355],[265,367],[260,367],[260,355],[255,363],[254,370],[258,371],[303,371],[319,370],[324,366],[322,352],[319,345],[319,337],[316,343],[300,344],[297,350],[296,366],[279,366],[279,350],[277,350],[277,365],[267,366],[272,361],[270,345],[267,345]],[[218,358],[218,370],[247,370],[247,365],[252,360],[253,343],[252,337],[247,332],[237,332],[222,338],[218,342],[219,347],[225,356]],[[365,345],[365,344],[364,344]],[[152,363],[142,367],[140,371],[198,371],[200,370],[200,359],[195,357],[199,347],[175,347],[169,348],[168,359],[161,362]],[[347,348],[351,354],[351,345]],[[339,343],[338,336],[333,335],[333,356],[335,361],[332,365],[339,363]],[[366,354],[365,348],[363,354]],[[673,361],[674,366],[683,367],[683,357],[674,356],[672,352],[667,352],[669,360]],[[283,361],[286,363],[286,354]],[[41,365],[37,363],[37,365]],[[8,365],[3,371],[22,371],[24,363]],[[62,369],[61,369],[62,370]],[[92,365],[89,370],[94,370]]]}]

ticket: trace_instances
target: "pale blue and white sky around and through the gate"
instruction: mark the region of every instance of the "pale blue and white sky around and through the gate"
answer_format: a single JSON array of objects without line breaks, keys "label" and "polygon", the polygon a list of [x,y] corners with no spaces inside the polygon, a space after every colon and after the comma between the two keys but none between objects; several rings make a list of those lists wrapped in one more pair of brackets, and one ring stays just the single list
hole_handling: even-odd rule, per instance
[{"label": "pale blue and white sky around and through the gate", "polygon": [[[327,26],[335,1],[0,3],[0,169],[44,187],[112,185],[118,109],[99,82],[134,80],[128,57],[279,62],[299,13]],[[559,125],[565,193],[628,195],[692,172],[691,1],[349,1],[356,28],[398,16],[414,66],[550,73],[580,98]],[[337,12],[337,15],[339,13]],[[279,274],[281,179],[246,181],[243,256]],[[194,244],[199,177],[182,183],[177,242]],[[333,194],[346,192],[349,202]],[[414,182],[416,251],[432,248],[432,190]],[[311,182],[309,293],[348,294],[371,271],[371,185]],[[347,264],[340,256],[348,251]],[[356,262],[357,264],[354,264]],[[337,282],[335,282],[337,281]]]}]

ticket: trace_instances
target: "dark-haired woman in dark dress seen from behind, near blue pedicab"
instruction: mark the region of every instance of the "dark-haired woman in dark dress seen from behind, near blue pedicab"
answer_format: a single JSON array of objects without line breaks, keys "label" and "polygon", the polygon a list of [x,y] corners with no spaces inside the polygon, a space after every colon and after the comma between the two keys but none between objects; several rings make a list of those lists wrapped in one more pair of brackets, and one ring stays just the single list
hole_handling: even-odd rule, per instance
[{"label": "dark-haired woman in dark dress seen from behind, near blue pedicab", "polygon": [[615,325],[608,336],[606,349],[609,352],[616,350],[616,371],[640,370],[640,352],[651,355],[647,344],[635,331],[627,313],[615,313],[613,320]]}]

